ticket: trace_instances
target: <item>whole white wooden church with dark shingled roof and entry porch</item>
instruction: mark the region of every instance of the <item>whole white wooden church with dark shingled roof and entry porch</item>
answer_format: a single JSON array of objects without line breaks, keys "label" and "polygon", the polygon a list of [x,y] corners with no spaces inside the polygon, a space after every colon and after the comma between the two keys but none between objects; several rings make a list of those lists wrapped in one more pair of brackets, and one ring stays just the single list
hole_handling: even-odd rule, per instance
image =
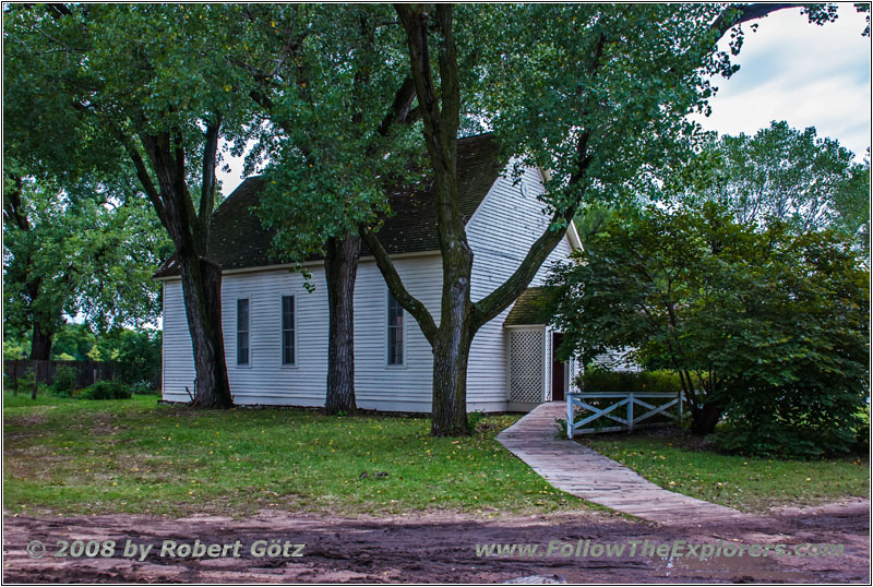
[{"label": "whole white wooden church with dark shingled roof and entry porch", "polygon": [[[488,134],[457,145],[462,214],[474,251],[473,298],[481,299],[518,266],[548,225],[539,169],[513,179]],[[262,181],[249,178],[215,211],[211,256],[223,267],[223,320],[234,400],[252,405],[324,405],[327,379],[327,292],[320,260],[307,263],[314,291],[292,265],[271,256],[270,230],[253,208]],[[439,319],[442,272],[435,199],[427,190],[391,196],[394,215],[380,232],[409,291]],[[579,247],[571,224],[530,288],[482,326],[470,349],[467,408],[528,410],[563,399],[575,367],[554,358],[560,334],[538,307],[549,267]],[[163,397],[188,402],[194,362],[182,304],[178,266],[168,260],[155,275],[164,284]],[[375,261],[363,247],[355,286],[355,390],[358,406],[429,412],[430,345],[415,320],[388,292]]]}]

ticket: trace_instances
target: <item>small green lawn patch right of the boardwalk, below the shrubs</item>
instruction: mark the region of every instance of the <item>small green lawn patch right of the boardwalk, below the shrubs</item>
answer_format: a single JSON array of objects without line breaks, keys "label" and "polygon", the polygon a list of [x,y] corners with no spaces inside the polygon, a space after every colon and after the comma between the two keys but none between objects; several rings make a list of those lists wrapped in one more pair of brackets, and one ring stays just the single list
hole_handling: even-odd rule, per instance
[{"label": "small green lawn patch right of the boardwalk, below the shrubs", "polygon": [[866,458],[754,459],[702,448],[693,436],[666,430],[581,442],[662,488],[746,512],[870,495]]}]

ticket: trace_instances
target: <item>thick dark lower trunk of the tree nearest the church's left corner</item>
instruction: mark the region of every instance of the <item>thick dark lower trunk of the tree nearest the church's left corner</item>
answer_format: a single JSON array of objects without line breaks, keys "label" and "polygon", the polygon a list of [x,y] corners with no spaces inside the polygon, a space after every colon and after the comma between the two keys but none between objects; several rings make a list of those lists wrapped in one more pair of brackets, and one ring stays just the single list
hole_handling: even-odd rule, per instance
[{"label": "thick dark lower trunk of the tree nearest the church's left corner", "polygon": [[188,332],[194,352],[194,398],[198,408],[234,405],[222,332],[222,268],[207,259],[179,255]]}]

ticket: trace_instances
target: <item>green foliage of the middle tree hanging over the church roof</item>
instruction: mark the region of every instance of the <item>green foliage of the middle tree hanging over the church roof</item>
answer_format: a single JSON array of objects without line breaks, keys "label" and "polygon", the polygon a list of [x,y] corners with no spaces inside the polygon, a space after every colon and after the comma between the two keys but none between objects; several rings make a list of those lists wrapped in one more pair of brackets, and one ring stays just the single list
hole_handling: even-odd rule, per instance
[{"label": "green foliage of the middle tree hanging over the church roof", "polygon": [[280,62],[258,89],[254,116],[265,123],[248,168],[263,168],[259,216],[276,231],[276,252],[300,261],[331,237],[375,226],[386,190],[415,181],[423,148],[417,127],[383,128],[407,75],[390,7],[256,10],[259,22],[284,24],[253,27],[258,50],[243,59]]}]

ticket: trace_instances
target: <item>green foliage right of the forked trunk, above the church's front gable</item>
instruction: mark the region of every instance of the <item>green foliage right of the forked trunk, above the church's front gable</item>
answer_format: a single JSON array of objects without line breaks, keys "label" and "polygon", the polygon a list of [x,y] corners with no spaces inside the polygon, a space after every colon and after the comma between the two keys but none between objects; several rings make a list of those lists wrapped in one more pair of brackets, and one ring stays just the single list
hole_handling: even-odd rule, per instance
[{"label": "green foliage right of the forked trunk, above the church's front gable", "polygon": [[485,48],[480,100],[514,154],[552,171],[549,204],[626,199],[681,156],[695,132],[684,117],[705,106],[705,73],[718,70],[719,7],[500,10],[487,21],[501,43]]}]

